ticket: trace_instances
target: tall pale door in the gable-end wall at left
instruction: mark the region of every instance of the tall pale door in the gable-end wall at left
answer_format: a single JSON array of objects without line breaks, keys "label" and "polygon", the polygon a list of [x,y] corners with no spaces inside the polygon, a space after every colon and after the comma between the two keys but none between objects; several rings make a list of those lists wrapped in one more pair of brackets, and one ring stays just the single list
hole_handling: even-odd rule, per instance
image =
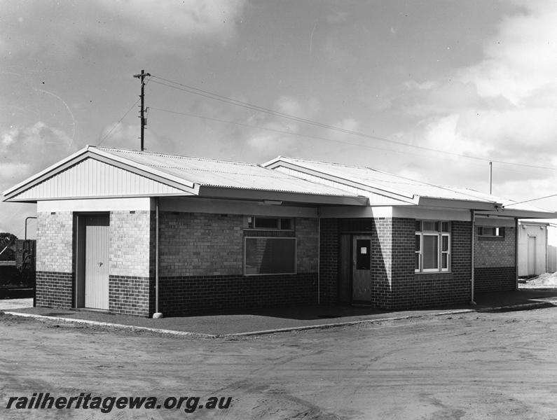
[{"label": "tall pale door in the gable-end wall at left", "polygon": [[109,309],[109,217],[85,217],[85,307]]}]

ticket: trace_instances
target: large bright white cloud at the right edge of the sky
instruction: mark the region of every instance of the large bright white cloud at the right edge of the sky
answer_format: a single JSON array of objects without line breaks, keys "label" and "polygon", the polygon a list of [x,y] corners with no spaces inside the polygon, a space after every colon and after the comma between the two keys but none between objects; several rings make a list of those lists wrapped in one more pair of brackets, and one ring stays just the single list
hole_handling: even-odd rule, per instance
[{"label": "large bright white cloud at the right edge of the sky", "polygon": [[[555,166],[557,148],[557,3],[518,3],[483,45],[479,62],[443,78],[413,80],[392,109],[417,118],[404,141],[486,160]],[[406,157],[407,173],[428,173],[435,182],[485,190],[488,162],[440,153]],[[437,160],[439,163],[432,165]],[[497,189],[510,197],[549,195],[555,172],[495,163]]]}]

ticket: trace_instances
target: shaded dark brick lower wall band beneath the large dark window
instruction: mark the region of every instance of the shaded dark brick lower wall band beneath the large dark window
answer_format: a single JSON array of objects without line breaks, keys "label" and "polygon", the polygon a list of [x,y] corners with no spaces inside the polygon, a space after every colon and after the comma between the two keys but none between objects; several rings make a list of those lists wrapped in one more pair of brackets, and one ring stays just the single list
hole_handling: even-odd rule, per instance
[{"label": "shaded dark brick lower wall band beneath the large dark window", "polygon": [[317,303],[317,274],[167,276],[159,279],[160,310],[178,316],[219,309]]}]

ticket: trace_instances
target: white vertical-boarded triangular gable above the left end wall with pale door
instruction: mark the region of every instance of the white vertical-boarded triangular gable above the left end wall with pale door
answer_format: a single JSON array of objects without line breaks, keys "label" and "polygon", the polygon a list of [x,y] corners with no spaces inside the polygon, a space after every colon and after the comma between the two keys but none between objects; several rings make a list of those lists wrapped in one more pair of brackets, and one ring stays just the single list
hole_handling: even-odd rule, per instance
[{"label": "white vertical-boarded triangular gable above the left end wall with pale door", "polygon": [[60,200],[83,197],[137,197],[146,195],[193,195],[163,182],[93,158],[53,174],[8,201]]}]

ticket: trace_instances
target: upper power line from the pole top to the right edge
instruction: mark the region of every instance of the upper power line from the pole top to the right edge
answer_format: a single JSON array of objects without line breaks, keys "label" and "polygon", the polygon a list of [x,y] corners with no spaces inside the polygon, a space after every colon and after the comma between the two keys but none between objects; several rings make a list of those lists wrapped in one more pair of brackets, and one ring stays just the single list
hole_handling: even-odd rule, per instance
[{"label": "upper power line from the pole top to the right edge", "polygon": [[[337,132],[343,132],[345,134],[351,134],[351,135],[354,135],[354,136],[357,136],[357,137],[364,137],[366,139],[385,141],[387,143],[397,144],[399,146],[404,146],[404,147],[417,148],[417,149],[420,149],[420,150],[423,150],[423,151],[443,153],[445,155],[457,156],[459,158],[482,160],[484,162],[496,162],[496,163],[499,163],[501,165],[513,165],[513,166],[529,167],[529,168],[536,168],[536,169],[557,170],[557,167],[544,167],[544,166],[530,165],[530,164],[525,164],[525,163],[505,162],[504,160],[495,160],[495,159],[491,159],[491,158],[481,158],[479,156],[474,156],[474,155],[465,155],[465,154],[462,154],[462,153],[441,151],[441,150],[435,149],[435,148],[428,148],[428,147],[425,147],[425,146],[418,146],[418,145],[415,145],[415,144],[404,143],[402,141],[385,139],[384,137],[373,136],[372,134],[356,132],[354,130],[346,130],[346,129],[343,129],[342,127],[336,127],[336,126],[333,126],[333,125],[319,123],[318,121],[315,121],[315,120],[309,120],[307,118],[300,118],[298,116],[293,116],[291,114],[282,113],[280,111],[275,111],[273,109],[268,109],[268,108],[265,108],[263,106],[250,104],[249,102],[240,101],[238,99],[233,99],[231,97],[226,97],[226,96],[223,96],[221,94],[216,94],[214,92],[209,92],[208,90],[198,89],[198,87],[193,87],[191,85],[185,85],[184,83],[175,82],[173,80],[169,80],[169,79],[166,79],[166,78],[161,78],[161,77],[158,77],[158,76],[151,76],[151,77],[156,78],[158,80],[163,80],[164,82],[167,82],[167,83],[163,83],[163,82],[159,82],[157,80],[151,80],[153,83],[157,83],[158,85],[167,86],[167,87],[170,87],[172,89],[181,90],[181,91],[188,92],[188,93],[191,93],[191,94],[197,94],[197,95],[200,95],[202,97],[206,97],[208,99],[213,99],[213,100],[216,100],[216,101],[219,101],[219,102],[224,102],[226,104],[241,106],[241,107],[246,108],[246,109],[251,109],[252,111],[259,111],[259,112],[262,112],[262,113],[268,113],[268,114],[273,115],[273,116],[278,116],[278,117],[281,117],[281,118],[287,118],[289,120],[294,120],[298,123],[305,123],[305,124],[308,124],[308,125],[314,125],[315,127],[324,128],[326,130],[333,130],[333,131],[337,131]],[[169,84],[169,83],[172,83],[172,84]],[[361,146],[361,145],[358,145],[358,146]]]}]

